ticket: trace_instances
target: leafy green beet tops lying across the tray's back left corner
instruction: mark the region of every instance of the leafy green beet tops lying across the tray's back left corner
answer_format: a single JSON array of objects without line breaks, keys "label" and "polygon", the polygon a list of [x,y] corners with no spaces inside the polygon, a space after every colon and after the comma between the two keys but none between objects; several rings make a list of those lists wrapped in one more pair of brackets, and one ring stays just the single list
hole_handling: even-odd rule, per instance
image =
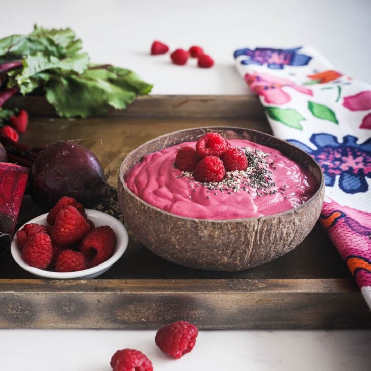
[{"label": "leafy green beet tops lying across the tray's back left corner", "polygon": [[[61,117],[88,117],[125,109],[152,85],[133,71],[90,63],[82,42],[67,29],[35,26],[29,35],[0,39],[0,124],[3,104],[16,93],[45,93]],[[7,110],[10,111],[10,110]]]}]

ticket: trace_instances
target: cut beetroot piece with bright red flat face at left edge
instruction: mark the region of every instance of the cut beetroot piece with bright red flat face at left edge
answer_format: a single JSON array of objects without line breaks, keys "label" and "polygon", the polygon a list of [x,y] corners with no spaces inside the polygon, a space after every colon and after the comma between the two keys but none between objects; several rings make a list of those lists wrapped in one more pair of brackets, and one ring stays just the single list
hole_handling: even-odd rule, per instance
[{"label": "cut beetroot piece with bright red flat face at left edge", "polygon": [[29,169],[0,163],[0,252],[9,246],[26,189]]}]

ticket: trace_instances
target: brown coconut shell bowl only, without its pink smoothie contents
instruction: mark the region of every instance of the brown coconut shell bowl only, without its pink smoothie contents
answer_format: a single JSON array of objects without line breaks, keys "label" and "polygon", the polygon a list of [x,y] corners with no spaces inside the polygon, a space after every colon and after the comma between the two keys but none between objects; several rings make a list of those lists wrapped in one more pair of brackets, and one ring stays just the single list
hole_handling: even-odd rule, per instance
[{"label": "brown coconut shell bowl only, without its pink smoothie contents", "polygon": [[[144,155],[182,142],[197,141],[207,131],[216,131],[227,139],[247,139],[279,149],[309,170],[319,188],[307,202],[283,213],[226,220],[171,214],[146,203],[127,188],[125,173]],[[155,254],[182,266],[233,272],[274,260],[305,239],[320,216],[324,177],[312,157],[286,141],[255,130],[204,127],[163,135],[131,152],[121,164],[118,198],[125,222]]]}]

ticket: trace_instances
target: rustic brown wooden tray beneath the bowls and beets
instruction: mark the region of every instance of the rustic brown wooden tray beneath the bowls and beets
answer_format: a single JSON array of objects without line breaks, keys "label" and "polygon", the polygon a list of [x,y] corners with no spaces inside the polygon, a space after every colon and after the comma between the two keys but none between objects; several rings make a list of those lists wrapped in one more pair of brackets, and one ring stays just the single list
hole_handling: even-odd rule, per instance
[{"label": "rustic brown wooden tray beneath the bowls and beets", "polygon": [[[40,97],[13,102],[35,114],[24,143],[90,138],[84,145],[104,164],[94,139],[102,138],[111,184],[131,150],[170,131],[215,125],[271,133],[254,96],[150,96],[126,111],[83,120],[56,118]],[[20,222],[40,213],[26,197]],[[371,327],[369,309],[320,225],[287,255],[237,273],[177,266],[151,253],[132,233],[124,256],[95,280],[35,279],[10,254],[0,258],[2,328],[155,329],[179,319],[204,329]]]}]

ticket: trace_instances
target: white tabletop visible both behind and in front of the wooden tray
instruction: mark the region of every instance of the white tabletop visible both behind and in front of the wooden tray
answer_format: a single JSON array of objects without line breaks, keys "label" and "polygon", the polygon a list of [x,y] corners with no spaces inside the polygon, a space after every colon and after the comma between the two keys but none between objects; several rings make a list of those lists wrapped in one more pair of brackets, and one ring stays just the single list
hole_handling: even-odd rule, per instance
[{"label": "white tabletop visible both behind and in front of the wooden tray", "polygon": [[[247,94],[232,59],[244,46],[311,44],[338,70],[371,82],[371,2],[358,1],[64,1],[1,2],[0,37],[34,23],[71,26],[94,62],[135,70],[155,94]],[[199,44],[209,70],[148,55],[154,39],[171,49]],[[143,351],[155,370],[368,370],[371,331],[201,331],[181,360],[154,345],[155,331],[0,330],[0,370],[109,371],[122,348]]]}]

